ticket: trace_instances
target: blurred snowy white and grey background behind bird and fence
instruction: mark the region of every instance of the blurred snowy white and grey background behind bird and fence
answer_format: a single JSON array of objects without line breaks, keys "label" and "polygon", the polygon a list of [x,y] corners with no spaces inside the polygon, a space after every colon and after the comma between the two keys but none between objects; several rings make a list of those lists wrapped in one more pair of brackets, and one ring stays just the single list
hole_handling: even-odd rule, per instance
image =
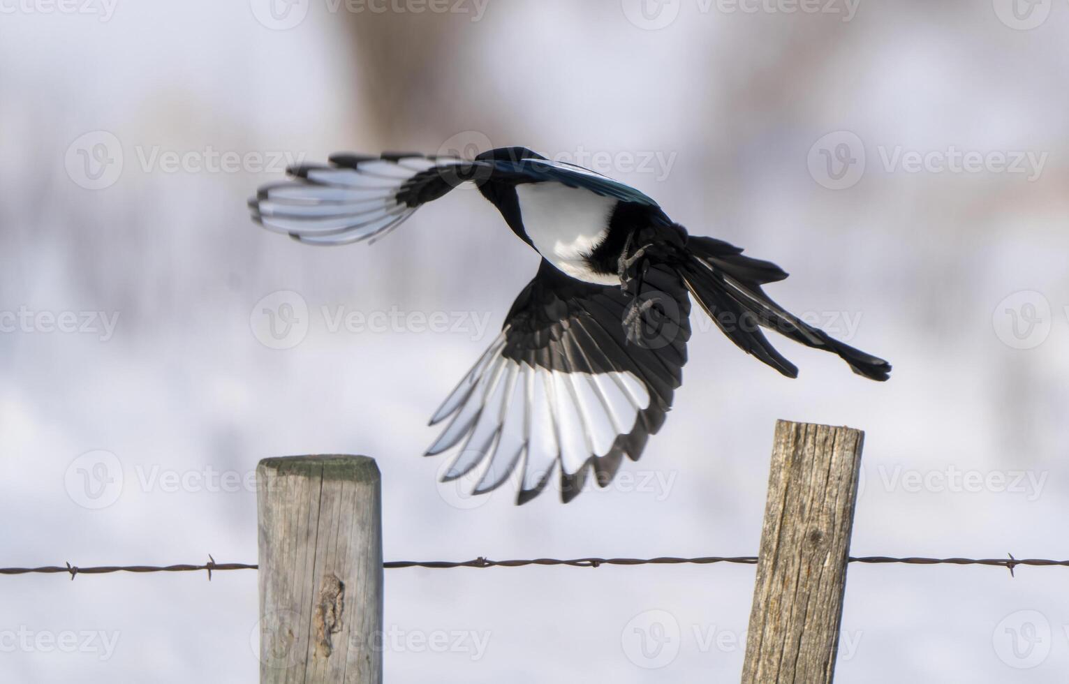
[{"label": "blurred snowy white and grey background behind bird and fence", "polygon": [[[867,432],[854,555],[1069,557],[1064,0],[0,13],[0,565],[254,562],[255,464],[304,453],[378,461],[388,560],[750,555],[777,418]],[[505,145],[780,264],[770,294],[890,382],[786,340],[783,378],[696,313],[629,477],[518,508],[436,484],[427,419],[537,255],[472,191],[334,249],[245,203],[337,151]],[[1066,573],[1016,575],[853,565],[837,679],[1064,682]],[[753,581],[387,571],[386,678],[738,681]],[[6,577],[0,607],[4,682],[257,681],[252,571]]]}]

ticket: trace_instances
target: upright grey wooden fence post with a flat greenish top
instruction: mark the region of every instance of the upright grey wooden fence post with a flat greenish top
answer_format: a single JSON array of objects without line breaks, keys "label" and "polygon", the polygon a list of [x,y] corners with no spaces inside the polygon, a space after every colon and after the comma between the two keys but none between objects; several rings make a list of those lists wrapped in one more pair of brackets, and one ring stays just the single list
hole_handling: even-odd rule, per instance
[{"label": "upright grey wooden fence post with a flat greenish top", "polygon": [[378,466],[366,456],[257,467],[260,682],[383,681]]}]

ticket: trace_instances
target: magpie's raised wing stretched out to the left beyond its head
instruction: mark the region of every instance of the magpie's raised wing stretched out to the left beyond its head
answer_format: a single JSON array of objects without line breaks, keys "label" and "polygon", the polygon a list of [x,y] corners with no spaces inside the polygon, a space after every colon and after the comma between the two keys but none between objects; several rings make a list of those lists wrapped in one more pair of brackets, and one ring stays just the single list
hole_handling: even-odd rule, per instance
[{"label": "magpie's raised wing stretched out to the left beyond its head", "polygon": [[261,187],[249,200],[253,220],[310,245],[374,242],[485,166],[410,153],[329,160],[292,167],[293,180]]}]

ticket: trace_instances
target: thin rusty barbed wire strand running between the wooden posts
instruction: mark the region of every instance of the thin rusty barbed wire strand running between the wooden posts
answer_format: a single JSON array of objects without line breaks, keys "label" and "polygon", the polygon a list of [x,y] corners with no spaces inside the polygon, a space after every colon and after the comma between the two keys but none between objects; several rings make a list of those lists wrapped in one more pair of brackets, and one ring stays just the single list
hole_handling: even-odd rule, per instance
[{"label": "thin rusty barbed wire strand running between the wooden posts", "polygon": [[[92,568],[79,568],[69,562],[64,565],[44,565],[41,568],[0,568],[0,575],[29,575],[29,574],[59,574],[66,573],[74,579],[77,575],[104,575],[108,573],[184,573],[184,572],[207,572],[208,580],[212,579],[213,572],[228,570],[258,570],[254,563],[217,563],[208,555],[208,561],[204,564],[182,563],[177,565],[97,565]],[[862,556],[850,557],[851,563],[866,564],[888,564],[899,563],[907,565],[990,565],[994,568],[1005,568],[1013,576],[1013,569],[1021,565],[1036,568],[1047,568],[1058,565],[1069,568],[1069,560],[1050,560],[1045,558],[1013,558],[1008,554],[1008,558],[895,558],[890,556]],[[401,568],[427,568],[432,570],[449,570],[453,568],[524,568],[528,565],[569,565],[572,568],[600,568],[602,565],[712,565],[714,563],[739,563],[743,565],[756,565],[756,556],[703,556],[698,558],[676,558],[672,556],[662,556],[659,558],[530,558],[521,560],[491,560],[480,556],[472,560],[448,561],[448,560],[394,560],[383,563],[386,570]]]}]

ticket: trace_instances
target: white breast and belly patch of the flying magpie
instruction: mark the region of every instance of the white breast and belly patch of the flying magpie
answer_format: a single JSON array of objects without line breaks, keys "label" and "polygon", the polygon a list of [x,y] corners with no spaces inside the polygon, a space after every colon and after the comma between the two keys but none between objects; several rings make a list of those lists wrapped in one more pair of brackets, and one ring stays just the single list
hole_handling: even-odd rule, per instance
[{"label": "white breast and belly patch of the flying magpie", "polygon": [[605,239],[615,199],[559,183],[523,183],[516,195],[527,236],[546,261],[579,280],[619,284],[619,278],[594,273],[584,259]]}]

